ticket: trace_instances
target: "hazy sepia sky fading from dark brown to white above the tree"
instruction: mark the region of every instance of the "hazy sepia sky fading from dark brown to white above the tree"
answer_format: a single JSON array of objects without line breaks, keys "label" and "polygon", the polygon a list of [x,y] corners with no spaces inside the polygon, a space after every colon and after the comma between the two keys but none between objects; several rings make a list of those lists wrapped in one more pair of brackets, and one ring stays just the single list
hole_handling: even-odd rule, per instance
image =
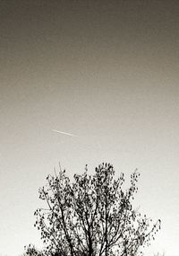
[{"label": "hazy sepia sky fading from dark brown to white above the tree", "polygon": [[[178,255],[179,2],[0,2],[0,255],[40,249],[38,188],[110,162],[141,172],[135,204]],[[70,137],[53,129],[74,134]]]}]

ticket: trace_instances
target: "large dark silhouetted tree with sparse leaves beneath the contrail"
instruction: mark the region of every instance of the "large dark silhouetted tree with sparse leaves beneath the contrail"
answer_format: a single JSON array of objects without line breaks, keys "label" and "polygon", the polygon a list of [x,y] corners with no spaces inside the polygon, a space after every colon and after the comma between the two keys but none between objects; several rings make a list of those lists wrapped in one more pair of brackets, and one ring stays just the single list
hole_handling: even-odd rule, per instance
[{"label": "large dark silhouetted tree with sparse leaves beneath the contrail", "polygon": [[[124,173],[115,179],[110,163],[102,163],[94,175],[75,174],[71,182],[65,170],[47,176],[47,186],[39,189],[46,208],[38,208],[35,226],[41,231],[44,255],[136,256],[149,245],[160,220],[152,224],[132,207],[140,173],[131,175],[123,189]],[[29,254],[30,255],[30,254]],[[33,254],[31,254],[33,255]],[[35,255],[35,254],[34,254]],[[37,254],[38,255],[38,254]]]}]

